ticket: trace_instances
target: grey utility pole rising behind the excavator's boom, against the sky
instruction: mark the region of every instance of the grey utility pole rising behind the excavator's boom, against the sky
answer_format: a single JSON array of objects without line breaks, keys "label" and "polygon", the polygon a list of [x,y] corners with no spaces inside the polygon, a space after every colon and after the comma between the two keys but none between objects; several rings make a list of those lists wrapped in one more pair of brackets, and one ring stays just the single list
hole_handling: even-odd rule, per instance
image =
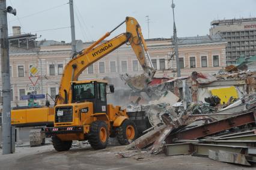
[{"label": "grey utility pole rising behind the excavator's boom, against the sky", "polygon": [[76,35],[75,35],[75,21],[74,21],[74,7],[73,0],[69,0],[69,12],[70,12],[70,28],[71,28],[71,45],[72,56],[76,52]]}]

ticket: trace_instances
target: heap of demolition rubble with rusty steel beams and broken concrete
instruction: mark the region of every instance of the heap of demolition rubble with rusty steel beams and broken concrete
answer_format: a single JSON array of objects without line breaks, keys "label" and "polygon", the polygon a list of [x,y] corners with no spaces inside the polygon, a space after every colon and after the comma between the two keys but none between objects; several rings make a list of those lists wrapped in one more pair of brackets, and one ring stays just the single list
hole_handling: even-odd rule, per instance
[{"label": "heap of demolition rubble with rusty steel beams and broken concrete", "polygon": [[[186,79],[186,82],[192,80],[192,87],[183,90],[183,97],[176,96],[175,87],[170,87],[168,82],[151,87],[154,100],[148,105],[138,105],[137,102],[127,106],[128,112],[144,111],[151,124],[144,135],[127,145],[127,149],[146,150],[153,154],[164,152],[167,156],[192,154],[242,165],[255,163],[255,79],[256,73],[250,71],[222,72],[214,76],[192,73]],[[241,93],[239,98],[231,96],[225,103],[221,103],[218,96],[192,102],[194,91],[198,90],[194,84],[204,85],[219,80],[246,80],[254,85],[248,93]],[[181,82],[180,79],[175,81]]]}]

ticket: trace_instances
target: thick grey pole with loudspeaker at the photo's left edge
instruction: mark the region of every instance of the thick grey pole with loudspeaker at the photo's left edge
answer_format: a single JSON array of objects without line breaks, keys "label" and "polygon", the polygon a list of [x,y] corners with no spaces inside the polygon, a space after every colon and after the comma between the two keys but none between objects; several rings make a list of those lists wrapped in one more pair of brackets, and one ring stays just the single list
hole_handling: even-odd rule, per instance
[{"label": "thick grey pole with loudspeaker at the photo's left edge", "polygon": [[11,96],[10,62],[7,12],[16,15],[16,10],[6,8],[6,1],[0,0],[0,46],[2,73],[2,154],[11,153]]}]

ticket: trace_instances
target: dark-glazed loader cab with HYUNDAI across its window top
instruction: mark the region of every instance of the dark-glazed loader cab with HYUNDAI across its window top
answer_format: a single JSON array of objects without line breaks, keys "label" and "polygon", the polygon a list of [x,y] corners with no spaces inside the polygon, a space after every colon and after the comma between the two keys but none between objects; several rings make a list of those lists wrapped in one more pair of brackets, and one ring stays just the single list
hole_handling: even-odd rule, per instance
[{"label": "dark-glazed loader cab with HYUNDAI across its window top", "polygon": [[[94,113],[106,113],[106,87],[105,80],[82,80],[71,83],[72,103],[92,102]],[[114,88],[111,86],[111,88]],[[114,92],[112,89],[111,91]]]}]

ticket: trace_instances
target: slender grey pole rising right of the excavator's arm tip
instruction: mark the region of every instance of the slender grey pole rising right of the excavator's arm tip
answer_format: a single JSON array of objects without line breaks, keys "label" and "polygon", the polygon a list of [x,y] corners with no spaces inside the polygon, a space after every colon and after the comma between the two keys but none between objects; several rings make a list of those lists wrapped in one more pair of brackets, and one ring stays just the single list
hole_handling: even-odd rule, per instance
[{"label": "slender grey pole rising right of the excavator's arm tip", "polygon": [[173,3],[173,0],[172,0],[171,8],[172,8],[172,14],[173,14],[174,52],[176,56],[177,77],[180,77],[180,65],[178,64],[178,38],[177,38],[177,30],[176,30],[176,25],[174,20],[174,7],[175,7],[175,4]]}]

